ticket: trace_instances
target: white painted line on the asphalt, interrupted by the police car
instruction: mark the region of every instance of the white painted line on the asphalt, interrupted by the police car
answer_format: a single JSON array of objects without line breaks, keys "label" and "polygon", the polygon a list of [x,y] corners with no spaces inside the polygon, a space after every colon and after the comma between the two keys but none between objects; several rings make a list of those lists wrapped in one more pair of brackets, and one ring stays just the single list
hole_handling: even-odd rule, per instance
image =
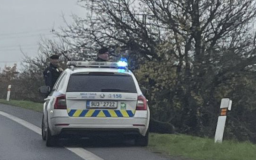
[{"label": "white painted line on the asphalt, interrupted by the police car", "polygon": [[[25,127],[27,127],[28,129],[36,132],[37,134],[41,135],[41,128],[35,126],[34,124],[31,124],[27,121],[24,121],[23,119],[20,119],[16,116],[12,116],[8,113],[2,112],[0,111],[0,115],[5,116]],[[66,149],[70,150],[71,152],[75,153],[76,155],[80,156],[81,158],[85,159],[85,160],[104,160],[102,158],[100,158],[99,156],[94,155],[92,152],[89,152],[87,150],[85,150],[84,148],[77,148],[77,147],[65,147]]]}]

